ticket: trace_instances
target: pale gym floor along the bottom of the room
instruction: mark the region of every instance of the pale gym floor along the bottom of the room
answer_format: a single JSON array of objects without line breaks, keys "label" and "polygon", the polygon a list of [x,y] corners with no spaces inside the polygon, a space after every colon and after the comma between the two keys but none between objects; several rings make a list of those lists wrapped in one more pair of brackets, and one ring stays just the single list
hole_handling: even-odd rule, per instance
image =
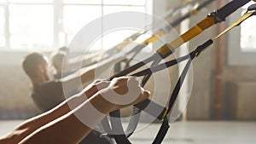
[{"label": "pale gym floor along the bottom of the room", "polygon": [[[0,121],[0,136],[13,130],[22,120]],[[140,124],[143,126],[143,124]],[[160,124],[150,124],[145,129],[137,131],[130,140],[135,144],[148,144]],[[256,122],[234,121],[189,121],[171,124],[164,144],[254,144],[256,143]]]}]

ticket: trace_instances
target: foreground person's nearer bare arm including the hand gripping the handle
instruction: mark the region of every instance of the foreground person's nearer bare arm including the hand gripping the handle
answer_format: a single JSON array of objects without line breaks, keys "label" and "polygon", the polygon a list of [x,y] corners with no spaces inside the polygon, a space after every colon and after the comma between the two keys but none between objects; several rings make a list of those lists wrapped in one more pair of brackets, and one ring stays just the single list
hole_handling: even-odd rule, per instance
[{"label": "foreground person's nearer bare arm including the hand gripping the handle", "polygon": [[[133,86],[136,87],[129,90],[127,81],[133,82]],[[119,95],[125,95],[127,91],[132,91],[137,88],[141,89],[135,78],[116,78],[111,82],[108,88],[98,91],[95,95],[90,97],[89,101],[84,101],[82,105],[72,112],[68,112],[61,118],[36,130],[32,135],[27,136],[21,141],[20,144],[78,143],[84,136],[89,134],[90,130],[102,120],[105,114],[143,101],[148,98],[149,93],[142,89],[137,95],[137,98],[127,104],[113,104],[107,101],[104,95],[108,97],[108,93],[111,90],[114,90],[114,92]],[[96,110],[94,112],[90,111],[91,106],[96,107],[99,111],[98,114],[94,113]]]}]

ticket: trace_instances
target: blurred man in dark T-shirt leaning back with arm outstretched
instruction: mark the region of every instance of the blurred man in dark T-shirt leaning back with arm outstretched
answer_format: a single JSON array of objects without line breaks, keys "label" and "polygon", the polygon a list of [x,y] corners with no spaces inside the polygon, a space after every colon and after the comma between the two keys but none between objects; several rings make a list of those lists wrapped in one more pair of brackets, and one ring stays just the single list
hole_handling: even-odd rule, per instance
[{"label": "blurred man in dark T-shirt leaning back with arm outstretched", "polygon": [[[32,100],[42,112],[47,112],[65,101],[66,97],[78,94],[85,86],[93,82],[96,69],[102,69],[99,72],[104,72],[107,67],[121,59],[123,59],[123,56],[120,55],[109,58],[61,79],[53,77],[55,73],[53,67],[51,67],[48,58],[41,53],[34,52],[26,55],[22,67],[32,82]],[[83,88],[78,86],[79,83],[83,84]],[[65,85],[65,94],[63,84]],[[101,134],[92,131],[82,142],[87,143],[87,140],[93,140],[94,143],[111,143],[109,139],[100,138],[99,135]]]}]

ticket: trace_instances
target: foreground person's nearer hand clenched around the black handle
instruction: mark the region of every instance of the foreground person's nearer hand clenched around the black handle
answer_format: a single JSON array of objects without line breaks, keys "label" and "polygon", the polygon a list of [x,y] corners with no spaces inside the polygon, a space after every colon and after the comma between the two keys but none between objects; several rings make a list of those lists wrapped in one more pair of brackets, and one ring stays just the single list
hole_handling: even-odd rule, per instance
[{"label": "foreground person's nearer hand clenched around the black handle", "polygon": [[108,113],[135,105],[148,98],[150,92],[144,90],[134,77],[113,78],[107,88],[96,93],[91,101],[100,112]]}]

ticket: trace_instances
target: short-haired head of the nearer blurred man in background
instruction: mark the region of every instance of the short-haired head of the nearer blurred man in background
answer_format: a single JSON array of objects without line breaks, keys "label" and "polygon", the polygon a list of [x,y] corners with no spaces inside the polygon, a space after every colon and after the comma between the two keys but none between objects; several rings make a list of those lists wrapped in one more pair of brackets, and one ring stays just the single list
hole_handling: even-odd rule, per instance
[{"label": "short-haired head of the nearer blurred man in background", "polygon": [[40,53],[26,55],[22,67],[33,84],[42,84],[49,80],[49,60]]}]

